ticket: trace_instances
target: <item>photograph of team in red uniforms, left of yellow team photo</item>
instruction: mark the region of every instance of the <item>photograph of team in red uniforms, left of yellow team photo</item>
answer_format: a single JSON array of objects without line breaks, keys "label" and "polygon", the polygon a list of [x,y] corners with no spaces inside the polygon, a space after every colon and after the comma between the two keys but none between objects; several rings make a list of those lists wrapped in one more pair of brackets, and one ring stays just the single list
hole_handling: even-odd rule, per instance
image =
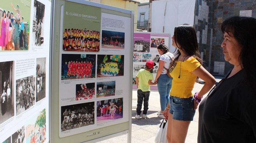
[{"label": "photograph of team in red uniforms, left of yellow team photo", "polygon": [[62,54],[61,80],[95,78],[96,55]]}]

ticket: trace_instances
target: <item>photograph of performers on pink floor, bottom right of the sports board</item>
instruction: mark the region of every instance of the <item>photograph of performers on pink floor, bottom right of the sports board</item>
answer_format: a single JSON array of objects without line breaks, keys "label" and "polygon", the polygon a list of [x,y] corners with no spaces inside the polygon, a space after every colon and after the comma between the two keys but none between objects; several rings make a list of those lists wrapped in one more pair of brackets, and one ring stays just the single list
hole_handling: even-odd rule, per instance
[{"label": "photograph of performers on pink floor, bottom right of the sports board", "polygon": [[123,118],[123,98],[97,101],[97,124]]}]

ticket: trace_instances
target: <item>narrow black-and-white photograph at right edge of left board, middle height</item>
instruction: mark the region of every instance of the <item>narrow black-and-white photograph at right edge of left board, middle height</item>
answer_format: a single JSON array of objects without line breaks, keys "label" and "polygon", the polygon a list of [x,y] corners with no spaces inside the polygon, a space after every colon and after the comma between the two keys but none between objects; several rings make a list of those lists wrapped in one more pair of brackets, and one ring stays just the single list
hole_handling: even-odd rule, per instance
[{"label": "narrow black-and-white photograph at right edge of left board, middle height", "polygon": [[36,102],[45,98],[46,58],[37,58]]}]

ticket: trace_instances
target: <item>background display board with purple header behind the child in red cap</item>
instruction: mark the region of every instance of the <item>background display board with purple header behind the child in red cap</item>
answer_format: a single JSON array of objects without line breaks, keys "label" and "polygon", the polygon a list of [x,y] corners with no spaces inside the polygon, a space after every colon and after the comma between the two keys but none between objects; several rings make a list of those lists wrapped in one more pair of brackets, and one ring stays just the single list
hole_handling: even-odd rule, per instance
[{"label": "background display board with purple header behind the child in red cap", "polygon": [[[157,47],[164,44],[170,47],[170,34],[169,33],[154,33],[154,32],[134,32],[133,36],[133,85],[136,85],[135,77],[138,71],[145,68],[145,64],[149,60],[156,63],[153,69],[153,77],[156,78],[158,70],[158,59],[160,54]],[[171,51],[170,51],[171,52]],[[157,90],[157,85],[151,85],[152,90]],[[137,89],[133,86],[133,89]]]}]

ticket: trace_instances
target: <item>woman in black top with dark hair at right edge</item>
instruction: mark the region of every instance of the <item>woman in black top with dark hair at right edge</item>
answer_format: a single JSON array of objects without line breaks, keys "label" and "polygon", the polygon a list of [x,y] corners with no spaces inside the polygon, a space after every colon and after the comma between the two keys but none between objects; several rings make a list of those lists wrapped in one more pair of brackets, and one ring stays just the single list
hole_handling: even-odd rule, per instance
[{"label": "woman in black top with dark hair at right edge", "polygon": [[224,58],[234,65],[199,106],[198,143],[256,142],[256,19],[226,19]]}]

